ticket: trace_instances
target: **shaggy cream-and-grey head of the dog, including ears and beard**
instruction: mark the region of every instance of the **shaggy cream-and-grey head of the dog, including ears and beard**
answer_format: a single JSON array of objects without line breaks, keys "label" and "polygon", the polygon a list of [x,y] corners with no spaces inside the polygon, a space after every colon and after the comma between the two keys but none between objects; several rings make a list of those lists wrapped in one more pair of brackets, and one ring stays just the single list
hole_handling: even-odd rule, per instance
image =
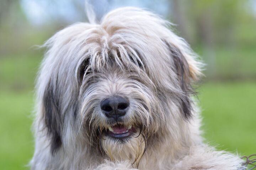
[{"label": "shaggy cream-and-grey head of the dog, including ears and beard", "polygon": [[53,154],[80,141],[104,157],[138,162],[147,144],[178,133],[174,127],[192,115],[201,63],[169,25],[119,8],[46,42],[37,89]]}]

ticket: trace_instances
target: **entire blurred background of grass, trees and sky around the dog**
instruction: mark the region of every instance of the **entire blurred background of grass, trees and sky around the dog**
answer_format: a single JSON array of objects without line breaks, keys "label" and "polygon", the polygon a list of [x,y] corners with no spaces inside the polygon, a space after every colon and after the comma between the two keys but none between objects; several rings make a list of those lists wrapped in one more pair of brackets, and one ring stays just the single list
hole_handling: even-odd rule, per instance
[{"label": "entire blurred background of grass, trees and sky around the dog", "polygon": [[[175,23],[175,32],[207,63],[197,90],[206,142],[256,153],[256,0],[93,2],[101,14],[137,6]],[[0,169],[29,169],[34,80],[44,52],[34,45],[87,22],[84,8],[84,0],[0,0]]]}]

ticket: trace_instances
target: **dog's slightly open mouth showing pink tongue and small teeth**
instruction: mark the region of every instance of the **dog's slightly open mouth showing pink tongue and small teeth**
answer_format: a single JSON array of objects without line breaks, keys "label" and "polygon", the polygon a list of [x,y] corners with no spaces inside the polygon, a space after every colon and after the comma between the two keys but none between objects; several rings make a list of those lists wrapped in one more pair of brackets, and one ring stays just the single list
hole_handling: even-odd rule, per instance
[{"label": "dog's slightly open mouth showing pink tongue and small teeth", "polygon": [[134,134],[136,132],[136,129],[132,127],[132,125],[129,125],[128,127],[123,125],[114,125],[109,126],[106,130],[106,136],[110,136],[117,139],[127,138]]}]

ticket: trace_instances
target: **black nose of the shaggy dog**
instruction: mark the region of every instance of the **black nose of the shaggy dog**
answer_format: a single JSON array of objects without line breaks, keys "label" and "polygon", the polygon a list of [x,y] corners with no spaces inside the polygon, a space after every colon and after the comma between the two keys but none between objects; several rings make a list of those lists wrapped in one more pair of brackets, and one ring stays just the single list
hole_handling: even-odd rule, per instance
[{"label": "black nose of the shaggy dog", "polygon": [[112,96],[101,102],[101,110],[108,118],[119,118],[126,114],[129,106],[127,98]]}]

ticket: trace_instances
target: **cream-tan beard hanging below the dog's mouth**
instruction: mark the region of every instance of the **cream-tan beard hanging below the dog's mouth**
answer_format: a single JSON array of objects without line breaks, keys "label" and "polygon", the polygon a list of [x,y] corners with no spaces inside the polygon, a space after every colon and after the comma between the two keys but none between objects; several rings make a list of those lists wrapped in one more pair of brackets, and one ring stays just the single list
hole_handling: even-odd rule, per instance
[{"label": "cream-tan beard hanging below the dog's mouth", "polygon": [[129,160],[134,168],[138,168],[139,161],[146,149],[146,139],[138,131],[123,140],[103,135],[101,138],[101,149],[110,160]]}]

